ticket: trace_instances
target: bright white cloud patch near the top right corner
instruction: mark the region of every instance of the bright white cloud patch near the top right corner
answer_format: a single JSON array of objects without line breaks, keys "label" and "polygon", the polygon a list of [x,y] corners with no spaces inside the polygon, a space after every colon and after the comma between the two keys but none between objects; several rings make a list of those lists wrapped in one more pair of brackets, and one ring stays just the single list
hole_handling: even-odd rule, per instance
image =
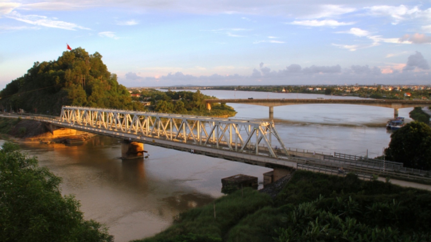
[{"label": "bright white cloud patch near the top right corner", "polygon": [[366,8],[371,15],[392,18],[392,24],[398,24],[406,19],[418,17],[422,11],[417,7],[379,5]]}]

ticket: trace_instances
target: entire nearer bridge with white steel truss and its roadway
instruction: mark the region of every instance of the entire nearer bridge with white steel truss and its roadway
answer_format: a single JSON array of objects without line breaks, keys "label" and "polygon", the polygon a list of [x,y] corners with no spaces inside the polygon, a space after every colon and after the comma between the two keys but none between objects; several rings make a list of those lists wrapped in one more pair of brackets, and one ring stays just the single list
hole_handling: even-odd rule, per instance
[{"label": "entire nearer bridge with white steel truss and its roadway", "polygon": [[[16,118],[16,115],[1,115]],[[24,118],[144,144],[194,151],[269,168],[293,168],[337,174],[343,167],[362,178],[371,175],[426,180],[429,171],[402,163],[285,147],[273,122],[128,110],[63,106],[60,117],[21,114]],[[338,174],[339,175],[339,174]]]}]

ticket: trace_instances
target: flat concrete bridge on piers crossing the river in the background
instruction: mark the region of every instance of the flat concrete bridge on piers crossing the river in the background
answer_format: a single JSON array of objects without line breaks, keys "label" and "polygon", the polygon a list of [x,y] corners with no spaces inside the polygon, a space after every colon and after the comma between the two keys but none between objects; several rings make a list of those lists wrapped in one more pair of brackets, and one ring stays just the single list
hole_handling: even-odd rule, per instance
[{"label": "flat concrete bridge on piers crossing the river in the background", "polygon": [[431,100],[386,100],[386,99],[207,99],[206,107],[211,110],[211,103],[241,103],[269,107],[269,119],[274,117],[274,107],[303,104],[350,104],[367,105],[394,109],[394,118],[398,109],[431,106]]}]

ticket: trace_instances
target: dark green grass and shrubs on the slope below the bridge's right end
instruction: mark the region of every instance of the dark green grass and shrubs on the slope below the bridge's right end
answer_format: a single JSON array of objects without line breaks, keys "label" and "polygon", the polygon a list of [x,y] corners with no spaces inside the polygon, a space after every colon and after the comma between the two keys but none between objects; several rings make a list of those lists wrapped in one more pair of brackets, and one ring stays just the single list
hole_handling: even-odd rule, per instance
[{"label": "dark green grass and shrubs on the slope below the bridge's right end", "polygon": [[[296,171],[272,200],[249,188],[178,216],[144,242],[198,234],[226,242],[430,241],[431,193],[381,181]],[[189,240],[184,240],[187,242]],[[209,240],[210,241],[210,240]]]}]

